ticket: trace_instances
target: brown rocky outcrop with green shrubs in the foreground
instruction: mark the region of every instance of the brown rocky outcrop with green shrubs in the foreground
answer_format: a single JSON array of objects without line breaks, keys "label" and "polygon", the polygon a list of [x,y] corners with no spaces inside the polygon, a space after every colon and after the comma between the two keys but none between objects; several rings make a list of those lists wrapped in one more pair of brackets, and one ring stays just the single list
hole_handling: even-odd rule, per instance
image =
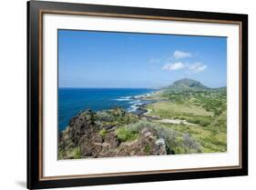
[{"label": "brown rocky outcrop with green shrubs in the foreground", "polygon": [[80,113],[59,135],[58,158],[167,155],[165,140],[153,127],[123,127],[138,122],[138,119],[138,115],[121,108]]}]

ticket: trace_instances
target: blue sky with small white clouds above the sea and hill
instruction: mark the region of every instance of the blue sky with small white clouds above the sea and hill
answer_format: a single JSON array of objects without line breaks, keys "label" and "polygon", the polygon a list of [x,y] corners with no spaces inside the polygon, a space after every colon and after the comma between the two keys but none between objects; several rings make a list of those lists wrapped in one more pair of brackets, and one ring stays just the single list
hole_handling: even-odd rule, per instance
[{"label": "blue sky with small white clouds above the sea and hill", "polygon": [[58,30],[59,87],[220,87],[226,67],[226,37]]}]

